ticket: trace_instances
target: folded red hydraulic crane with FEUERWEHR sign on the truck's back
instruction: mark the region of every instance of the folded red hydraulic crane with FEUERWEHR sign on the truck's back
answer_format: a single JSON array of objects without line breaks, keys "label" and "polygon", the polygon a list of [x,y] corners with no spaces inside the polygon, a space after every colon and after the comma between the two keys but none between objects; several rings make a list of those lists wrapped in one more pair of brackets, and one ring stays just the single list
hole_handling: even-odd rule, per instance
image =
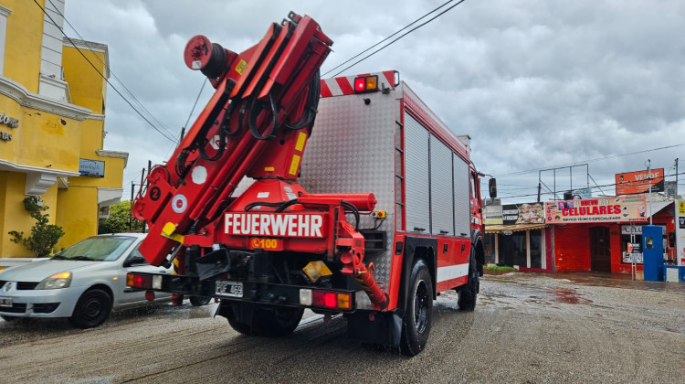
[{"label": "folded red hydraulic crane with FEUERWEHR sign on the truck's back", "polygon": [[[309,16],[289,18],[242,53],[204,36],[188,42],[186,65],[216,92],[134,201],[133,215],[150,228],[140,251],[153,265],[179,259],[180,274],[199,284],[241,268],[252,283],[267,283],[274,254],[320,255],[382,309],[387,296],[364,265],[364,237],[345,218],[372,211],[374,195],[308,194],[297,183],[332,40]],[[244,176],[254,183],[232,196]]]}]

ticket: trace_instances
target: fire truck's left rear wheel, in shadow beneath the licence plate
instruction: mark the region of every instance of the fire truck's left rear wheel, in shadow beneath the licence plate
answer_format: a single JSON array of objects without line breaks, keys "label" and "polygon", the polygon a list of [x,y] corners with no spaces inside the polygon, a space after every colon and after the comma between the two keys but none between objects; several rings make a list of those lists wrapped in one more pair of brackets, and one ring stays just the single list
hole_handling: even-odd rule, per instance
[{"label": "fire truck's left rear wheel, in shadow beneath the licence plate", "polygon": [[[297,328],[304,313],[303,308],[288,306],[259,306],[255,304],[237,304],[241,315],[231,308],[222,311],[228,324],[236,332],[248,336],[280,337],[287,336]],[[249,314],[251,312],[251,314]],[[251,322],[248,320],[251,318]]]}]

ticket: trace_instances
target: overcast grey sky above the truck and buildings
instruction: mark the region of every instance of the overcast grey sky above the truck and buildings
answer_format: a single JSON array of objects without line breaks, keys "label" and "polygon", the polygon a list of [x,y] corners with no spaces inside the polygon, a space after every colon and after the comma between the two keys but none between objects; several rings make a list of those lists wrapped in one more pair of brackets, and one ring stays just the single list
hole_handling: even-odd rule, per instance
[{"label": "overcast grey sky above the truck and buildings", "polygon": [[[190,37],[239,52],[293,10],[334,41],[326,72],[445,1],[67,0],[66,16],[81,37],[109,46],[116,78],[155,125],[178,135],[204,80],[184,65]],[[685,170],[683,36],[682,0],[467,0],[343,75],[398,70],[455,133],[469,133],[471,158],[498,177],[500,197],[527,202],[540,169],[587,164],[590,187],[614,184],[614,174],[645,169],[648,159],[667,181],[675,158]],[[127,94],[118,80],[111,76]],[[111,89],[105,130],[105,149],[130,154],[125,190],[148,160],[162,163],[173,149]],[[587,181],[585,165],[556,176],[557,190]],[[553,188],[552,171],[543,182]]]}]

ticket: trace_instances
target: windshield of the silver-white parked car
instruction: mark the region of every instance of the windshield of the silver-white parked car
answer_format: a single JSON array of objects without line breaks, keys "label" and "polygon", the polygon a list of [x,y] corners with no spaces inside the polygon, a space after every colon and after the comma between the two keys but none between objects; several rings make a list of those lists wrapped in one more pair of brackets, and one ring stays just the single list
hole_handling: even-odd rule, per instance
[{"label": "windshield of the silver-white parked car", "polygon": [[92,237],[58,253],[60,259],[115,261],[132,244],[132,237]]}]

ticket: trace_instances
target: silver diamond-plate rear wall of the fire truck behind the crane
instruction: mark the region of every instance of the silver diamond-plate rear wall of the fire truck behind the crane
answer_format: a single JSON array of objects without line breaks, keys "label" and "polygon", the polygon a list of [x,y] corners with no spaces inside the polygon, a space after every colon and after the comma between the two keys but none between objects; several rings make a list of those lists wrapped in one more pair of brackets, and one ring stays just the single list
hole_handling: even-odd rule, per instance
[{"label": "silver diamond-plate rear wall of the fire truck behind the crane", "polygon": [[[319,114],[300,167],[300,185],[310,193],[373,192],[385,210],[380,229],[385,252],[368,252],[374,277],[387,284],[395,234],[395,95],[381,92],[321,98]],[[369,99],[366,104],[364,99]],[[347,220],[354,222],[352,215]],[[373,228],[362,216],[360,229]]]}]

